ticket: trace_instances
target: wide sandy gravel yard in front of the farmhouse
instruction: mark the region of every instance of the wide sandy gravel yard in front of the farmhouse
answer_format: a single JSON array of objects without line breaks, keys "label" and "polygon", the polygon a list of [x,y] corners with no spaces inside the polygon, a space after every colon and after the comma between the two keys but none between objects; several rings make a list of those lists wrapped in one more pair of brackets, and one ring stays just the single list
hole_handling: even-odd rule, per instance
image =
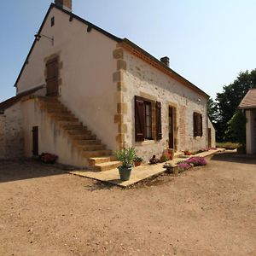
[{"label": "wide sandy gravel yard in front of the farmhouse", "polygon": [[256,160],[132,189],[0,162],[0,255],[256,255]]}]

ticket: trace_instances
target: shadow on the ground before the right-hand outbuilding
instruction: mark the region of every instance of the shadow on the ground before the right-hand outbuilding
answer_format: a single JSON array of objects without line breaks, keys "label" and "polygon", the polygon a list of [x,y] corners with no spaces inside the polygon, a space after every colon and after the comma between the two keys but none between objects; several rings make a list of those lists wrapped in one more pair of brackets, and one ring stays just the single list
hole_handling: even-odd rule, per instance
[{"label": "shadow on the ground before the right-hand outbuilding", "polygon": [[236,152],[224,152],[214,154],[211,158],[212,161],[234,162],[248,165],[256,165],[256,155],[253,154],[237,154]]}]

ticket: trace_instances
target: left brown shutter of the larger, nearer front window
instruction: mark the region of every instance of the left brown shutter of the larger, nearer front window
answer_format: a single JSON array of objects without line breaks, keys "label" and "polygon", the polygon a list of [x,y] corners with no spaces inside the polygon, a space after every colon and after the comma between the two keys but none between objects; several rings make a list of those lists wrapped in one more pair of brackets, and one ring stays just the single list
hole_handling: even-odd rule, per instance
[{"label": "left brown shutter of the larger, nearer front window", "polygon": [[135,96],[135,141],[142,142],[145,137],[145,106],[143,98]]}]

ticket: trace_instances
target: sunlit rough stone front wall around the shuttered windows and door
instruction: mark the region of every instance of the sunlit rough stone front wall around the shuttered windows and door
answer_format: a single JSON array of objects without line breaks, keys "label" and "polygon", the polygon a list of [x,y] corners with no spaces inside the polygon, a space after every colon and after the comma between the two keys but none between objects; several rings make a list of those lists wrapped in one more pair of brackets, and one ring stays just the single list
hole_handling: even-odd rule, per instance
[{"label": "sunlit rough stone front wall around the shuttered windows and door", "polygon": [[[164,148],[168,148],[168,108],[177,108],[175,130],[177,131],[177,151],[189,149],[191,151],[207,147],[207,98],[190,90],[183,84],[172,79],[148,65],[129,51],[125,50],[123,60],[126,67],[123,70],[123,85],[125,93],[123,101],[127,103],[127,113],[124,123],[127,124],[125,132],[125,147],[132,146],[137,154],[149,160],[153,154],[160,156]],[[134,131],[134,96],[143,96],[151,101],[161,102],[161,119],[163,138],[160,141],[135,142]],[[203,117],[203,136],[194,137],[193,113],[198,112]]]}]

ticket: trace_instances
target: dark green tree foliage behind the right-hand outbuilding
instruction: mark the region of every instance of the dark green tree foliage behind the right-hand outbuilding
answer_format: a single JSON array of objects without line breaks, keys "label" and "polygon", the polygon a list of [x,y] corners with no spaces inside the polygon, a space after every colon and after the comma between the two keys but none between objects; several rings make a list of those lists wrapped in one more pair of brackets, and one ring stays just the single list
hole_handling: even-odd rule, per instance
[{"label": "dark green tree foliage behind the right-hand outbuilding", "polygon": [[223,91],[217,94],[216,101],[212,105],[212,120],[215,123],[218,141],[236,141],[232,131],[228,131],[229,121],[236,113],[242,98],[251,88],[256,88],[256,69],[239,73],[232,84],[224,85]]}]

